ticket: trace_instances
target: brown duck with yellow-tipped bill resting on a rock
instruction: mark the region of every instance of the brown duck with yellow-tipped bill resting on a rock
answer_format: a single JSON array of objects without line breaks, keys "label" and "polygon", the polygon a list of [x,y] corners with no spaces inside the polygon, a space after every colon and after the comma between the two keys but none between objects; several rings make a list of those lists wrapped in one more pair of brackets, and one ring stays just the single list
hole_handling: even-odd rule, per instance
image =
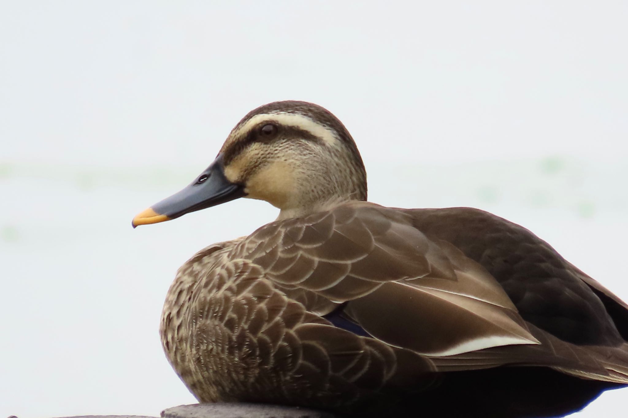
[{"label": "brown duck with yellow-tipped bill resting on a rock", "polygon": [[319,105],[252,110],[133,227],[237,198],[278,218],[193,255],[161,315],[166,357],[201,403],[556,417],[628,385],[624,301],[492,213],[367,201],[354,139]]}]

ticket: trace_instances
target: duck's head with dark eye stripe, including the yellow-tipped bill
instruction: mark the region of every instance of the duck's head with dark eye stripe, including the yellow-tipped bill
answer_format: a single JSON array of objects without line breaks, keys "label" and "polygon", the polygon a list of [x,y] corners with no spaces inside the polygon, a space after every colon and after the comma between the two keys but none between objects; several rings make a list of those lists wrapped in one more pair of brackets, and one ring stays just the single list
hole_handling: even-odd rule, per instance
[{"label": "duck's head with dark eye stripe, including the yellow-tipped bill", "polygon": [[252,110],[214,162],[190,185],[133,218],[133,227],[178,218],[241,197],[266,200],[279,218],[346,200],[366,200],[366,172],[351,135],[331,112],[307,102]]}]

